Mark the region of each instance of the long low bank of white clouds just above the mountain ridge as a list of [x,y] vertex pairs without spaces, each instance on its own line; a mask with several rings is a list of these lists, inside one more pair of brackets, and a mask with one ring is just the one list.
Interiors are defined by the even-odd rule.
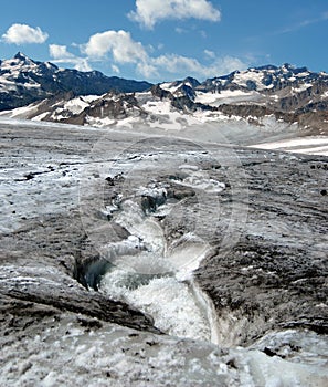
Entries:
[[247,64],[233,56],[216,56],[204,50],[202,60],[177,54],[155,55],[154,48],[145,48],[127,31],[105,31],[92,35],[86,44],[80,45],[81,56],[73,55],[66,45],[50,44],[54,63],[70,63],[77,70],[89,71],[89,63],[109,62],[114,73],[120,73],[124,65],[133,65],[142,77],[157,81],[163,77],[188,75],[204,79],[243,70]]

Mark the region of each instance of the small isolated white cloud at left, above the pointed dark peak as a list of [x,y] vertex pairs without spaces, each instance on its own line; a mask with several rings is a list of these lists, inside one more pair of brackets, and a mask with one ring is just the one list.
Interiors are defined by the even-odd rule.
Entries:
[[12,24],[2,35],[6,43],[25,44],[44,43],[49,34],[43,32],[40,27],[33,28],[27,24]]

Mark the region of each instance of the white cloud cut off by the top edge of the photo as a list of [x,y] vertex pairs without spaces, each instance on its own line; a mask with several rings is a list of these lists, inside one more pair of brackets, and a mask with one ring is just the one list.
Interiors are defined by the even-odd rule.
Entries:
[[136,0],[136,11],[128,17],[152,29],[166,19],[201,19],[220,21],[221,13],[208,0]]

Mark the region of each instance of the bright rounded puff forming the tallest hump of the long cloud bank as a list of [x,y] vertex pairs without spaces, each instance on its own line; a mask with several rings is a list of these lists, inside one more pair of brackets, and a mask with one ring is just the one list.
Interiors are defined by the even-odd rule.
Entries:
[[141,43],[131,39],[126,31],[105,31],[92,35],[83,51],[89,57],[104,57],[112,53],[117,63],[137,63],[147,60],[147,53]]

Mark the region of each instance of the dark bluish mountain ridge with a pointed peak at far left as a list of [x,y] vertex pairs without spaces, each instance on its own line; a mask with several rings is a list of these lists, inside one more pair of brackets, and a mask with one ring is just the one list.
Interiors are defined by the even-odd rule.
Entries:
[[59,69],[50,62],[33,61],[21,52],[11,60],[0,61],[0,111],[21,107],[65,92],[100,95],[110,90],[128,93],[150,86],[148,82],[109,77],[98,71]]

